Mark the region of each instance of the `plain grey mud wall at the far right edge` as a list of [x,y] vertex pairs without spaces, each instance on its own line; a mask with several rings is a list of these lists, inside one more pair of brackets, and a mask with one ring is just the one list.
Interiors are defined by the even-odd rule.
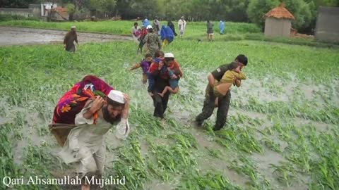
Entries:
[[339,42],[338,7],[319,7],[315,37],[327,42]]

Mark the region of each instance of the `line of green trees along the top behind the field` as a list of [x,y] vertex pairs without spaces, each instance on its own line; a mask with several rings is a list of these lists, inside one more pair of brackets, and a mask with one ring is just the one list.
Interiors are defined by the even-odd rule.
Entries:
[[[41,0],[0,0],[1,7],[27,8]],[[339,6],[339,0],[57,0],[69,8],[73,15],[88,13],[97,18],[121,16],[122,19],[148,18],[178,20],[184,16],[189,21],[225,20],[256,23],[263,27],[263,16],[270,9],[285,3],[294,16],[292,27],[301,32],[311,32],[316,24],[319,6]]]

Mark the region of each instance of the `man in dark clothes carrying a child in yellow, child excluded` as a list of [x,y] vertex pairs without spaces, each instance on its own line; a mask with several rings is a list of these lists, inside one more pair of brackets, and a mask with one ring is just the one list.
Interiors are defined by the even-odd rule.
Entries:
[[[205,100],[203,101],[203,110],[202,113],[200,113],[196,117],[196,122],[198,125],[202,125],[203,121],[210,118],[210,115],[212,115],[213,110],[215,108],[215,94],[213,92],[214,88],[214,82],[215,80],[220,81],[222,76],[225,74],[227,70],[232,70],[234,68],[237,68],[239,65],[241,66],[241,69],[247,65],[247,58],[246,56],[240,54],[235,58],[235,61],[237,64],[225,64],[220,65],[219,68],[214,70],[213,72],[210,72],[208,74],[208,84],[206,87],[206,94],[205,94]],[[237,87],[240,87],[240,84],[242,82],[240,80],[235,80],[234,85]],[[214,131],[218,131],[224,127],[226,120],[227,120],[227,113],[228,108],[230,107],[230,99],[231,99],[231,92],[227,91],[227,94],[218,101],[218,112],[217,112],[217,121],[215,122],[215,126],[213,128]]]

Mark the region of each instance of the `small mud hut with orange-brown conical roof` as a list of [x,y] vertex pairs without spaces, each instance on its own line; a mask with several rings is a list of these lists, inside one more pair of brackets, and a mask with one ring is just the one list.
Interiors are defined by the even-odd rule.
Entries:
[[285,4],[273,8],[265,14],[265,36],[290,37],[291,20],[295,17],[287,11]]

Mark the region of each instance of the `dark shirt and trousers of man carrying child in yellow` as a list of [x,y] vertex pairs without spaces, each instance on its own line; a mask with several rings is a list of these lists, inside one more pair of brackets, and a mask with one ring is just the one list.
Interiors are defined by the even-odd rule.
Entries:
[[[227,70],[233,70],[237,68],[237,66],[237,63],[220,65],[219,68],[211,72],[211,74],[215,80],[220,81]],[[215,108],[215,98],[216,96],[214,94],[213,88],[210,87],[210,84],[207,84],[205,100],[203,101],[203,109],[202,112],[196,117],[196,122],[202,124],[204,120],[210,118],[210,115],[212,115]],[[214,126],[215,130],[221,129],[226,123],[228,109],[230,108],[230,99],[230,91],[227,91],[225,96],[218,99],[217,121],[215,122]]]

